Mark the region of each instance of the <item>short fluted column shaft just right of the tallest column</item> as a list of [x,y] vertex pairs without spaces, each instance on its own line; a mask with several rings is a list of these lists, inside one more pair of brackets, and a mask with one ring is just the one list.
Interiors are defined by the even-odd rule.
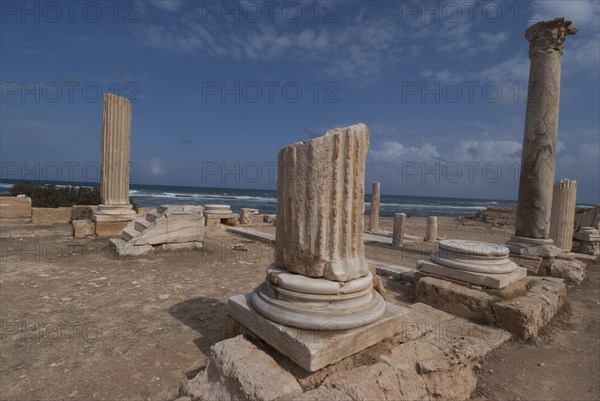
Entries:
[[571,252],[573,247],[576,195],[576,181],[564,179],[554,183],[550,238],[557,247],[567,252]]

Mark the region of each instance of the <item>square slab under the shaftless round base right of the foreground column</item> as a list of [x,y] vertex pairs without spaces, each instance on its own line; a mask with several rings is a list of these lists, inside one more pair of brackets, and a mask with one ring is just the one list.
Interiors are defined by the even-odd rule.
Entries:
[[482,285],[489,288],[504,288],[527,276],[527,269],[518,267],[515,271],[503,274],[485,274],[459,270],[429,261],[419,261],[417,270],[436,276],[448,277],[465,283]]

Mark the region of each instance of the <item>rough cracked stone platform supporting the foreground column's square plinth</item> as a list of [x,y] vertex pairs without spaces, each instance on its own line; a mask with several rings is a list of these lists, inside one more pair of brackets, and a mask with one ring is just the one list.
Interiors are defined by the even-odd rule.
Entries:
[[[230,323],[236,324],[234,320]],[[307,372],[250,332],[215,344],[207,367],[181,388],[192,399],[468,399],[481,359],[511,336],[422,303],[410,305],[402,333]],[[331,345],[331,344],[330,344]]]

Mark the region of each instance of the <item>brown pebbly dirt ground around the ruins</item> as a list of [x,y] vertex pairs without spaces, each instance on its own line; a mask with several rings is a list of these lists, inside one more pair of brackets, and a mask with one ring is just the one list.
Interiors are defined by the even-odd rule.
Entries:
[[[410,224],[423,235],[422,219]],[[439,233],[503,242],[510,231],[441,219]],[[231,250],[236,242],[249,251]],[[262,281],[273,253],[225,232],[202,252],[137,259],[119,260],[105,239],[2,238],[0,250],[2,400],[173,400],[223,338],[227,299]],[[538,341],[512,341],[484,361],[474,399],[600,399],[599,270],[589,265],[588,279],[569,288],[568,307]]]

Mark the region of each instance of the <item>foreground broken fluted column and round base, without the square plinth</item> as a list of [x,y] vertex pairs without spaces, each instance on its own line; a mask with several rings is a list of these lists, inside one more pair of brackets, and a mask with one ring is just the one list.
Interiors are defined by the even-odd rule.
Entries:
[[364,256],[368,147],[369,130],[358,124],[279,151],[275,263],[252,295],[263,316],[302,329],[339,330],[384,313]]

